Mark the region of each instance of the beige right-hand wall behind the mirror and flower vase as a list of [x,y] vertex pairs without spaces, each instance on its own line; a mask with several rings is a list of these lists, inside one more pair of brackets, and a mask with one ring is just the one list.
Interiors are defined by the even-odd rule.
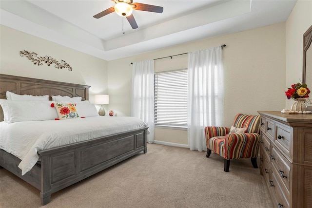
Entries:
[[[312,0],[298,0],[286,21],[286,87],[302,80],[303,34],[312,25]],[[312,86],[308,86],[312,88]],[[286,99],[286,97],[285,97]],[[286,99],[286,107],[293,101]]]

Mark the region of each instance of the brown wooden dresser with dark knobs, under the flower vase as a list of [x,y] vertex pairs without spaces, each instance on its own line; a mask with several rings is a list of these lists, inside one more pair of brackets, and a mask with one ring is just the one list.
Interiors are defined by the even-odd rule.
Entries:
[[260,173],[276,208],[312,208],[312,114],[258,111]]

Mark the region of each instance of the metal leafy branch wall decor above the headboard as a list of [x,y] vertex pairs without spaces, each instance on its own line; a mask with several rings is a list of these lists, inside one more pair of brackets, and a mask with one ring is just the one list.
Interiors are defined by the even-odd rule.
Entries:
[[28,52],[26,50],[24,51],[20,51],[20,56],[23,57],[27,57],[29,60],[31,60],[35,65],[41,66],[43,63],[48,64],[48,66],[50,66],[51,64],[55,64],[54,67],[58,68],[58,69],[62,69],[62,68],[68,68],[68,71],[72,71],[72,67],[66,63],[64,60],[61,60],[61,63],[59,63],[59,61],[57,61],[56,59],[49,57],[49,56],[45,56],[45,57],[37,57],[38,54],[33,53],[33,52]]

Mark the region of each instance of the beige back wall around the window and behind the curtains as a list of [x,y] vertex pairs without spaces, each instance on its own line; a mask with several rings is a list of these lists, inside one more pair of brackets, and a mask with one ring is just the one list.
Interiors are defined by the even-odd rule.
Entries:
[[[108,62],[110,108],[131,114],[131,62],[166,57],[226,44],[224,65],[224,126],[231,127],[236,113],[285,108],[285,23],[208,38],[175,47]],[[155,60],[155,71],[183,69],[188,56]],[[155,140],[187,145],[187,131],[155,130]]]

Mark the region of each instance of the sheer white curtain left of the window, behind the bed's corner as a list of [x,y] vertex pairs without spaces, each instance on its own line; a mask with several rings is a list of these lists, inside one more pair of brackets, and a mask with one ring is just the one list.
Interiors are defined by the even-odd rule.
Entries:
[[154,60],[133,63],[131,116],[149,127],[148,143],[154,142]]

